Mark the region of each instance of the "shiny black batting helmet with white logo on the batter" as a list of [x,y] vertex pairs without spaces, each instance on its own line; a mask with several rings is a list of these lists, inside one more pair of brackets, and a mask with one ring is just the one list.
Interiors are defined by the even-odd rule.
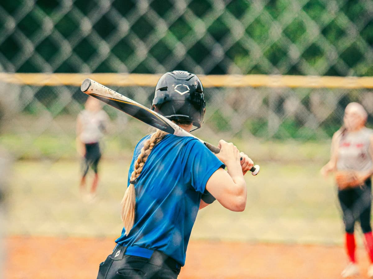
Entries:
[[203,123],[205,108],[202,83],[195,74],[173,71],[159,79],[153,110],[170,120],[190,121],[198,129]]

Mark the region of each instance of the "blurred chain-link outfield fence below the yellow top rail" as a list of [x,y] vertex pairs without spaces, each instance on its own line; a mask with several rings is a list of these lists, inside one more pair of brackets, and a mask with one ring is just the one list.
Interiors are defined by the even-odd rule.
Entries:
[[[79,86],[0,84],[4,89],[0,102],[1,141],[13,150],[16,158],[74,157],[75,118],[87,99]],[[154,86],[109,87],[151,106]],[[373,113],[373,92],[363,88],[208,87],[205,97],[207,112],[203,131],[195,134],[216,142],[220,138],[327,141],[341,126],[348,103],[362,103],[369,113],[369,122]],[[132,148],[138,136],[147,132],[146,125],[125,113],[109,106],[104,109],[113,121],[112,144],[126,142],[125,147]],[[141,127],[140,131],[136,128],[138,135],[132,138],[126,134],[134,129],[131,125]],[[46,141],[49,148],[43,146]]]

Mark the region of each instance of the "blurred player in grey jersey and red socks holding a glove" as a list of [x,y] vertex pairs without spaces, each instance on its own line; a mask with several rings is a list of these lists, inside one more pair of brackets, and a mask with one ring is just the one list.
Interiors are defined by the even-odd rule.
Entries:
[[338,185],[338,199],[345,225],[345,245],[350,262],[343,270],[342,277],[359,273],[354,235],[355,222],[358,221],[370,260],[368,277],[373,278],[373,235],[370,225],[373,131],[365,126],[367,116],[367,112],[359,103],[347,105],[344,125],[332,138],[330,161],[321,169],[324,176],[334,172]]

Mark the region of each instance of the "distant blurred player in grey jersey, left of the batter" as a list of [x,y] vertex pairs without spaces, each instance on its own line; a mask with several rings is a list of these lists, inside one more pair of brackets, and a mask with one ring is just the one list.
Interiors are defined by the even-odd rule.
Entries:
[[[98,163],[101,158],[100,140],[107,132],[109,117],[101,107],[101,102],[94,97],[88,97],[85,109],[82,110],[76,121],[76,147],[82,157],[82,177],[80,192],[87,201],[95,198],[98,184]],[[94,171],[93,182],[89,192],[86,189],[88,170]]]

